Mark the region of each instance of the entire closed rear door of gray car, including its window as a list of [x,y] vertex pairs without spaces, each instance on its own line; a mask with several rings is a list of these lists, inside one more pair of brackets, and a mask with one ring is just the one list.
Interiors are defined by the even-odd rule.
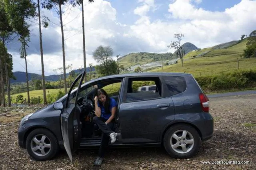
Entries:
[[[156,82],[156,93],[134,91],[131,82],[143,85],[145,81]],[[161,77],[126,77],[124,95],[119,109],[119,121],[123,143],[160,142],[165,125],[175,118],[174,103]],[[158,96],[159,95],[159,96]]]

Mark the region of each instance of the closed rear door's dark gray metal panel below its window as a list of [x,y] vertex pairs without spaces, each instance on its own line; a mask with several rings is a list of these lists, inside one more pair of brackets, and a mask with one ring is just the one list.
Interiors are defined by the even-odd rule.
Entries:
[[174,104],[171,97],[121,103],[119,121],[122,141],[124,143],[159,142],[161,140],[159,134],[163,127],[174,118]]

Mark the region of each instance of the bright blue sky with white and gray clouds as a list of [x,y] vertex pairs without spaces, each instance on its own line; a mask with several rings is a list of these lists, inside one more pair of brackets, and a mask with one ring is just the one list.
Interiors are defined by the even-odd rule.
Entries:
[[[239,40],[256,29],[256,0],[85,0],[86,66],[96,65],[92,52],[100,45],[113,48],[116,55],[136,52],[173,52],[167,45],[174,34],[182,33],[182,43],[198,48]],[[66,65],[83,67],[81,6],[65,5],[64,40]],[[48,28],[42,28],[45,75],[58,74],[63,67],[62,39],[59,18],[54,10],[42,9]],[[30,20],[30,42],[27,49],[28,72],[42,74],[39,25]],[[20,42],[8,43],[13,56],[13,71],[25,71],[20,58]]]

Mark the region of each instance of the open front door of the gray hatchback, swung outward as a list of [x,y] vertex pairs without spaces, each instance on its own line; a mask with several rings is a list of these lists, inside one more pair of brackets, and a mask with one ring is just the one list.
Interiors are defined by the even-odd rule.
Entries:
[[[75,81],[72,83],[70,90],[68,91],[66,106],[64,106],[64,110],[62,111],[62,114],[60,116],[63,143],[71,162],[73,162],[72,153],[74,153],[80,145],[80,112],[78,110],[79,108],[77,107],[77,99],[82,85],[82,81],[84,80],[84,75],[85,71],[78,75],[78,77],[76,77]],[[70,100],[69,98],[71,91],[73,90],[74,86],[78,81],[78,88],[76,92],[74,92],[76,98],[75,100]]]

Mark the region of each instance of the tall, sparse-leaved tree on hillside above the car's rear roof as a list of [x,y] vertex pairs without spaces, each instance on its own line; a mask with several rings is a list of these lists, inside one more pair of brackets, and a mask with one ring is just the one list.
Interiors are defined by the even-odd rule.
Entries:
[[170,44],[168,45],[168,47],[176,50],[176,53],[180,56],[181,65],[183,67],[184,49],[180,45],[182,37],[184,37],[184,34],[174,34],[174,38],[177,39],[177,41],[171,41]]

